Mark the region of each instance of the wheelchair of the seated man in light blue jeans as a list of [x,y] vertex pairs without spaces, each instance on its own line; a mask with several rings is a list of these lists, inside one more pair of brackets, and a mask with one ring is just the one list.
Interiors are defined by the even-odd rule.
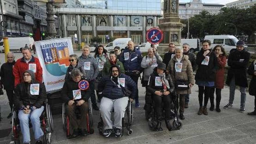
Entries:
[[[18,118],[18,111],[16,108],[13,108],[13,117],[12,117],[12,134],[11,134],[11,142],[10,144],[22,144],[20,136],[21,129],[19,126],[19,118]],[[49,104],[44,104],[44,111],[40,116],[40,123],[42,131],[44,132],[44,136],[42,136],[42,143],[43,144],[50,144],[51,143],[51,133],[54,130],[52,115],[51,115],[51,106]],[[32,127],[31,123],[29,122],[29,127]]]

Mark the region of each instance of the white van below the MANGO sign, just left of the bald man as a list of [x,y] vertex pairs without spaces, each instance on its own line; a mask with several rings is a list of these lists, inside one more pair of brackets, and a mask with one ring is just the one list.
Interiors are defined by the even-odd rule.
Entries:
[[124,49],[128,41],[131,40],[131,38],[116,38],[113,42],[109,42],[106,46],[105,49],[108,51],[113,51],[114,47],[118,46],[120,49]]

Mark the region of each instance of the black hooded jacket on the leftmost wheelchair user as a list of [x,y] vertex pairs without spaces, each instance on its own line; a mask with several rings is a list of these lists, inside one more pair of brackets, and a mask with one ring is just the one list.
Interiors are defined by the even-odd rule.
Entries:
[[38,82],[35,81],[35,74],[33,71],[26,70],[25,72],[31,75],[32,82],[22,82],[16,86],[14,91],[14,105],[17,109],[21,109],[22,106],[28,105],[30,107],[35,106],[36,108],[40,108],[46,102],[45,84],[39,83],[39,95],[31,95],[30,85],[37,84]]

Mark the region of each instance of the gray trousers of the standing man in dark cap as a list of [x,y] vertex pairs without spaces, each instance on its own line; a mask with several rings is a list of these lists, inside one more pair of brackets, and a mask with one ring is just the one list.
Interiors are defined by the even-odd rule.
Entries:
[[[229,103],[230,104],[233,104],[234,96],[235,96],[235,90],[236,90],[236,83],[235,83],[235,77],[233,77],[230,81],[230,86],[229,86]],[[245,107],[246,88],[240,86],[240,92],[241,92],[240,106]]]

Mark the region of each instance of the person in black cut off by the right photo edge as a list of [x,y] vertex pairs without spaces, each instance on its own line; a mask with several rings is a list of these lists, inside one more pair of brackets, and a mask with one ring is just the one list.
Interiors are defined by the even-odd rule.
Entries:
[[[256,96],[256,60],[254,60],[248,68],[248,74],[252,76],[249,86],[249,94]],[[256,115],[256,98],[254,98],[254,111],[248,115]]]

